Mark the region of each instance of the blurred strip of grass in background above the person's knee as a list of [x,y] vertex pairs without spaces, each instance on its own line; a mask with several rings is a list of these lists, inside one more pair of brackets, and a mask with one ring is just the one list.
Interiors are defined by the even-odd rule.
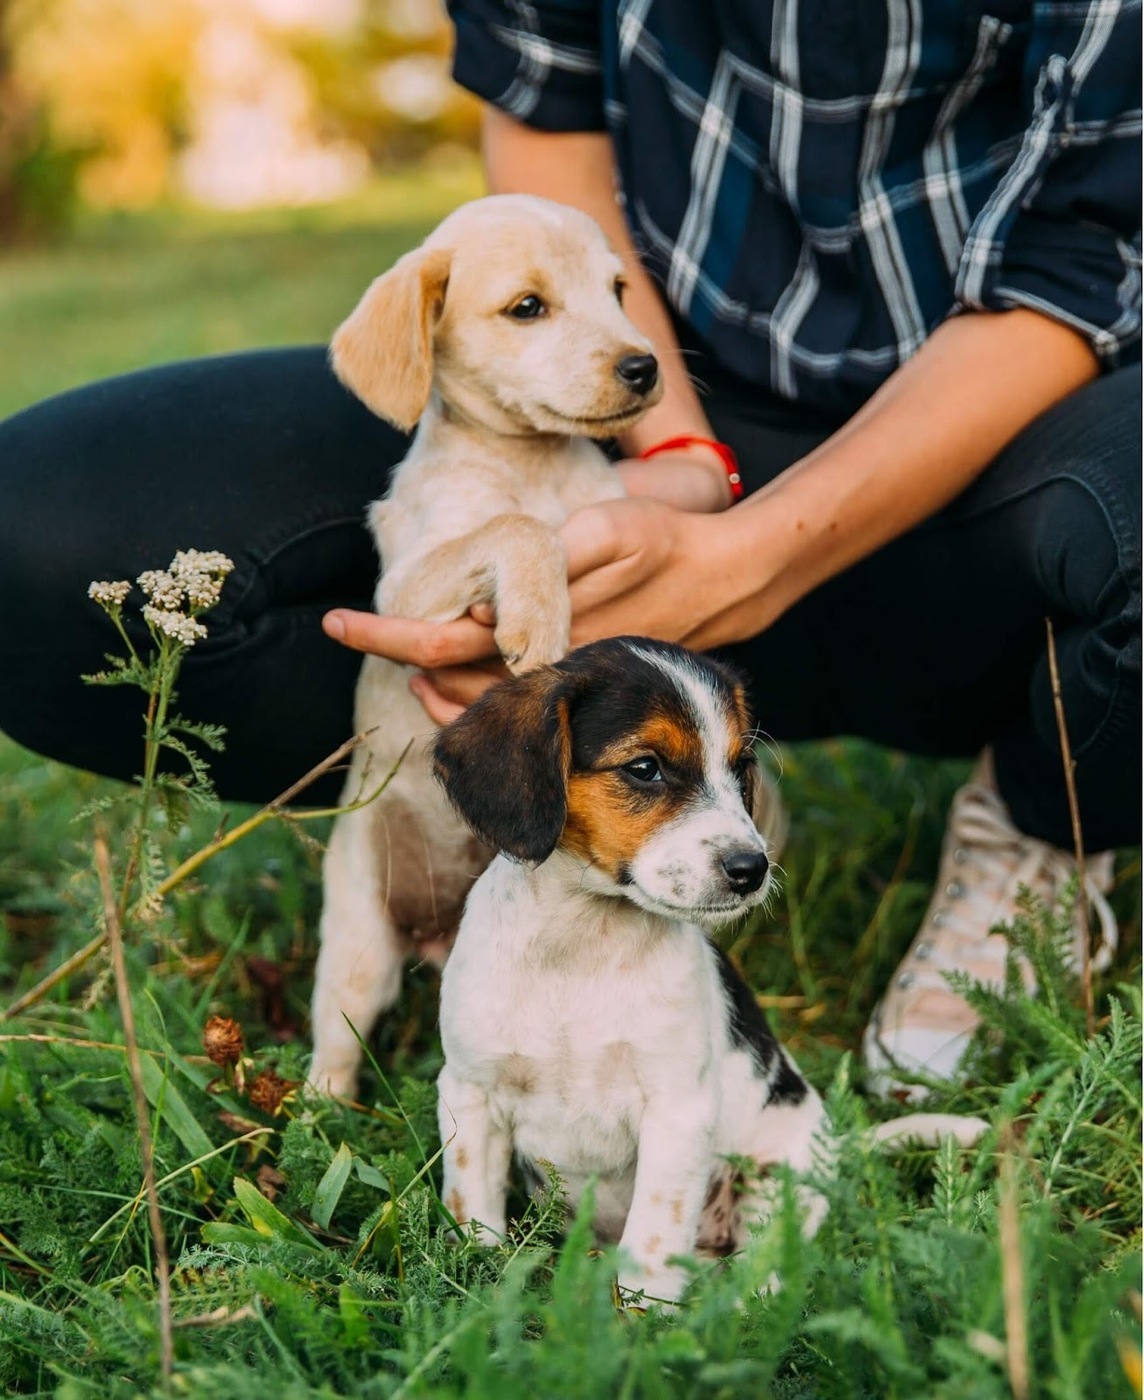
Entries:
[[0,416],[164,360],[328,340],[372,277],[479,193],[459,164],[329,209],[88,216],[69,242],[0,260]]

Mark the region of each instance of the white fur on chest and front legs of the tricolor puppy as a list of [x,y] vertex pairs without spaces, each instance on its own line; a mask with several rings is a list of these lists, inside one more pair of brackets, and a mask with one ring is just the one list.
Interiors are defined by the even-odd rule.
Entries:
[[[536,1177],[552,1163],[571,1205],[595,1177],[597,1231],[632,1256],[622,1284],[675,1298],[667,1260],[695,1250],[720,1154],[760,1155],[766,1077],[703,932],[584,892],[576,867],[497,857],[469,896],[441,990],[444,1200],[491,1240],[512,1151]],[[816,1096],[794,1112],[809,1142]]]

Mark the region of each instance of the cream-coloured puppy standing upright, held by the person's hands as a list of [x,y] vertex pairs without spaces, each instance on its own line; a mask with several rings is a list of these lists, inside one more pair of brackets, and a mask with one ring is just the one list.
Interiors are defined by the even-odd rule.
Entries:
[[[662,395],[647,339],[623,314],[623,273],[597,224],[531,196],[477,200],[367,290],[330,347],[337,377],[374,413],[417,431],[370,510],[381,613],[448,622],[496,609],[514,672],[568,644],[567,517],[623,494],[592,438],[636,423]],[[420,420],[420,421],[419,421]],[[325,861],[314,991],[312,1082],[350,1093],[358,1036],[392,1005],[405,958],[442,960],[489,860],[433,783],[433,725],[410,671],[367,657],[356,696],[346,804]]]

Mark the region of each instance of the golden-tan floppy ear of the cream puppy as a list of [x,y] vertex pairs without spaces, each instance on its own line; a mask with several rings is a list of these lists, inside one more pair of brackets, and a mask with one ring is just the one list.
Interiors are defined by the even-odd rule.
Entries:
[[445,302],[452,253],[416,248],[377,277],[335,330],[333,372],[346,388],[409,433],[428,403],[433,330]]

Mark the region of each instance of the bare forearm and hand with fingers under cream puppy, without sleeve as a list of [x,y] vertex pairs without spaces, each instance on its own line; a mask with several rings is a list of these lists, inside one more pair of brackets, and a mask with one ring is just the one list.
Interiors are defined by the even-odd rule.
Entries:
[[[1087,342],[1035,311],[947,321],[850,423],[735,510],[700,515],[637,498],[574,515],[564,528],[573,643],[643,633],[710,648],[758,634],[951,501],[1095,374]],[[472,617],[441,627],[339,617],[349,645],[433,671],[419,696],[434,720],[490,683],[463,669],[494,650]]]

